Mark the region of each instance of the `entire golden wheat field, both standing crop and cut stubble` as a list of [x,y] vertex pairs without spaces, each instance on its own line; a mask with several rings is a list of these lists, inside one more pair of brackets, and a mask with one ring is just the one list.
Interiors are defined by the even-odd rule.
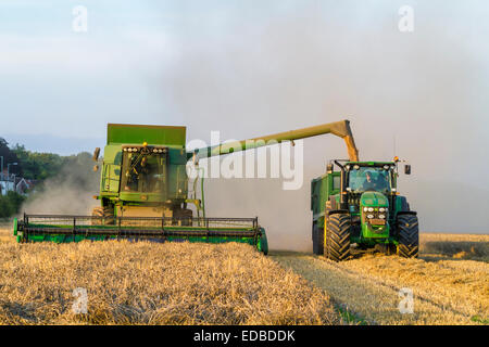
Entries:
[[[488,324],[489,235],[422,234],[418,259],[241,244],[16,244],[0,230],[0,324]],[[274,261],[275,260],[275,261]],[[77,287],[88,312],[72,310]],[[414,312],[400,313],[401,288]]]

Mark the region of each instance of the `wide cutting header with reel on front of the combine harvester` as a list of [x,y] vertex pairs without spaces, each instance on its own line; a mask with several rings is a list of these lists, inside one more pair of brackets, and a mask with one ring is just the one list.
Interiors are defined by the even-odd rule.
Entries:
[[14,224],[18,242],[83,240],[148,240],[155,242],[241,242],[266,253],[265,230],[258,218],[189,218],[178,226],[166,217],[113,217],[110,222],[99,216],[24,215]]

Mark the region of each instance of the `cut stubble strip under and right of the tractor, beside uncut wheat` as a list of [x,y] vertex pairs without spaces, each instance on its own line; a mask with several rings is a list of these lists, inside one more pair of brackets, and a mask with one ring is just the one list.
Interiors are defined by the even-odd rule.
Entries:
[[[418,259],[364,255],[336,264],[288,252],[272,257],[368,323],[488,324],[488,241],[489,235],[422,234]],[[413,291],[414,313],[399,311],[404,287]]]

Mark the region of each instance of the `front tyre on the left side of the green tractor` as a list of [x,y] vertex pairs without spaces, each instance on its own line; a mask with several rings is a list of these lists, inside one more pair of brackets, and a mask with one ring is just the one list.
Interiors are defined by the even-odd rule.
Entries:
[[334,261],[347,260],[350,257],[350,216],[335,214],[328,217],[326,224],[325,256]]

